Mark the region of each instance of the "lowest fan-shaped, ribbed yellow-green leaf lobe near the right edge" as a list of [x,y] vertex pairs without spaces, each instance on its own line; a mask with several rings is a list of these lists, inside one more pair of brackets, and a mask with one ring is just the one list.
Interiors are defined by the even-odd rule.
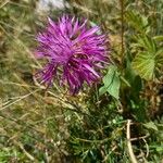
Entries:
[[150,80],[154,75],[155,55],[148,52],[140,52],[135,57],[131,65],[140,77]]

